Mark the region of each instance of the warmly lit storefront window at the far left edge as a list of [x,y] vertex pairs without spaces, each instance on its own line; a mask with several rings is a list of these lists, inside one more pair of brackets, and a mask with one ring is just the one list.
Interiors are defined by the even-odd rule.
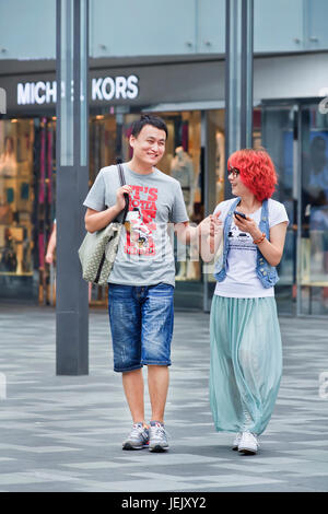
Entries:
[[28,119],[0,121],[0,283],[33,274],[33,144]]

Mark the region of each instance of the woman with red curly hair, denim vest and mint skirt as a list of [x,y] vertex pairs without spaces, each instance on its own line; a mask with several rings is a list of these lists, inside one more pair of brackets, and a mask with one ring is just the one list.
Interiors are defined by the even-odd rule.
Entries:
[[227,166],[237,198],[216,207],[202,249],[209,261],[223,237],[210,322],[210,405],[215,429],[237,432],[233,449],[256,454],[282,371],[273,287],[289,220],[284,206],[271,199],[277,175],[266,151],[239,150]]

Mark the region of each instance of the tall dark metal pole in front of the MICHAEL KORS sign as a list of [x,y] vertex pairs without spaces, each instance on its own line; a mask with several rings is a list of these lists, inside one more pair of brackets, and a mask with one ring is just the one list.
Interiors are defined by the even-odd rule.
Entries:
[[57,0],[56,371],[89,373],[87,284],[78,249],[89,186],[89,0]]

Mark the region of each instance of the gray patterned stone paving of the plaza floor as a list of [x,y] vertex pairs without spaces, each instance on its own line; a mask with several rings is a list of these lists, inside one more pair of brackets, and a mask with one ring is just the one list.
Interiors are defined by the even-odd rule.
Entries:
[[55,311],[0,305],[0,491],[328,491],[328,320],[280,323],[278,402],[258,455],[242,456],[213,429],[209,315],[176,313],[171,449],[152,454],[121,449],[131,422],[106,312],[90,315],[90,374],[56,376]]

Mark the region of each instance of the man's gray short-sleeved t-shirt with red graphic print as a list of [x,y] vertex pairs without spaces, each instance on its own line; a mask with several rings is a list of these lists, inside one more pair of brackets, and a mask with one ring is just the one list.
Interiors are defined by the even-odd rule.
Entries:
[[[175,178],[157,168],[141,175],[124,164],[124,171],[132,194],[108,282],[174,285],[173,225],[167,223],[188,221],[181,187]],[[115,206],[119,187],[117,166],[103,167],[83,205],[96,211]]]

